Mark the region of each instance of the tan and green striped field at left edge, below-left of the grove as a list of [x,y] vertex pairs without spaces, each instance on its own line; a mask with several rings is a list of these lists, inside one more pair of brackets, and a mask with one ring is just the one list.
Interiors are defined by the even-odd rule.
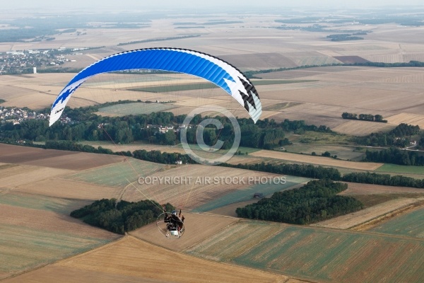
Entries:
[[81,200],[4,192],[0,202],[0,242],[5,243],[0,245],[1,277],[32,270],[119,238],[67,216],[85,204],[88,203]]

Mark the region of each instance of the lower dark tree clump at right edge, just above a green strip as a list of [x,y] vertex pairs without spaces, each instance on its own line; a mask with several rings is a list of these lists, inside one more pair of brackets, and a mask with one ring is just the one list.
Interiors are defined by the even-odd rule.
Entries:
[[391,146],[381,151],[366,151],[365,161],[393,163],[399,165],[424,166],[424,156],[417,151],[406,151]]

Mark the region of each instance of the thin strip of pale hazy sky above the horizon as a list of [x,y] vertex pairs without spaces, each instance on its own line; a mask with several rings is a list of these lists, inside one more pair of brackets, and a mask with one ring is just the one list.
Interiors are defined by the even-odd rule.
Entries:
[[423,6],[423,0],[2,0],[0,9],[25,8],[148,8],[208,6]]

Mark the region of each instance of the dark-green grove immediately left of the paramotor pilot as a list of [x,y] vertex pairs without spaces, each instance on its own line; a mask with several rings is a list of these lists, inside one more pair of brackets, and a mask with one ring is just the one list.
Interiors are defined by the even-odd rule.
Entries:
[[[174,207],[166,204],[167,211]],[[168,210],[169,209],[169,210]],[[92,226],[97,226],[113,233],[124,234],[155,221],[162,213],[160,204],[151,200],[139,202],[117,202],[115,199],[96,200],[92,204],[71,212],[71,216],[83,219]]]

